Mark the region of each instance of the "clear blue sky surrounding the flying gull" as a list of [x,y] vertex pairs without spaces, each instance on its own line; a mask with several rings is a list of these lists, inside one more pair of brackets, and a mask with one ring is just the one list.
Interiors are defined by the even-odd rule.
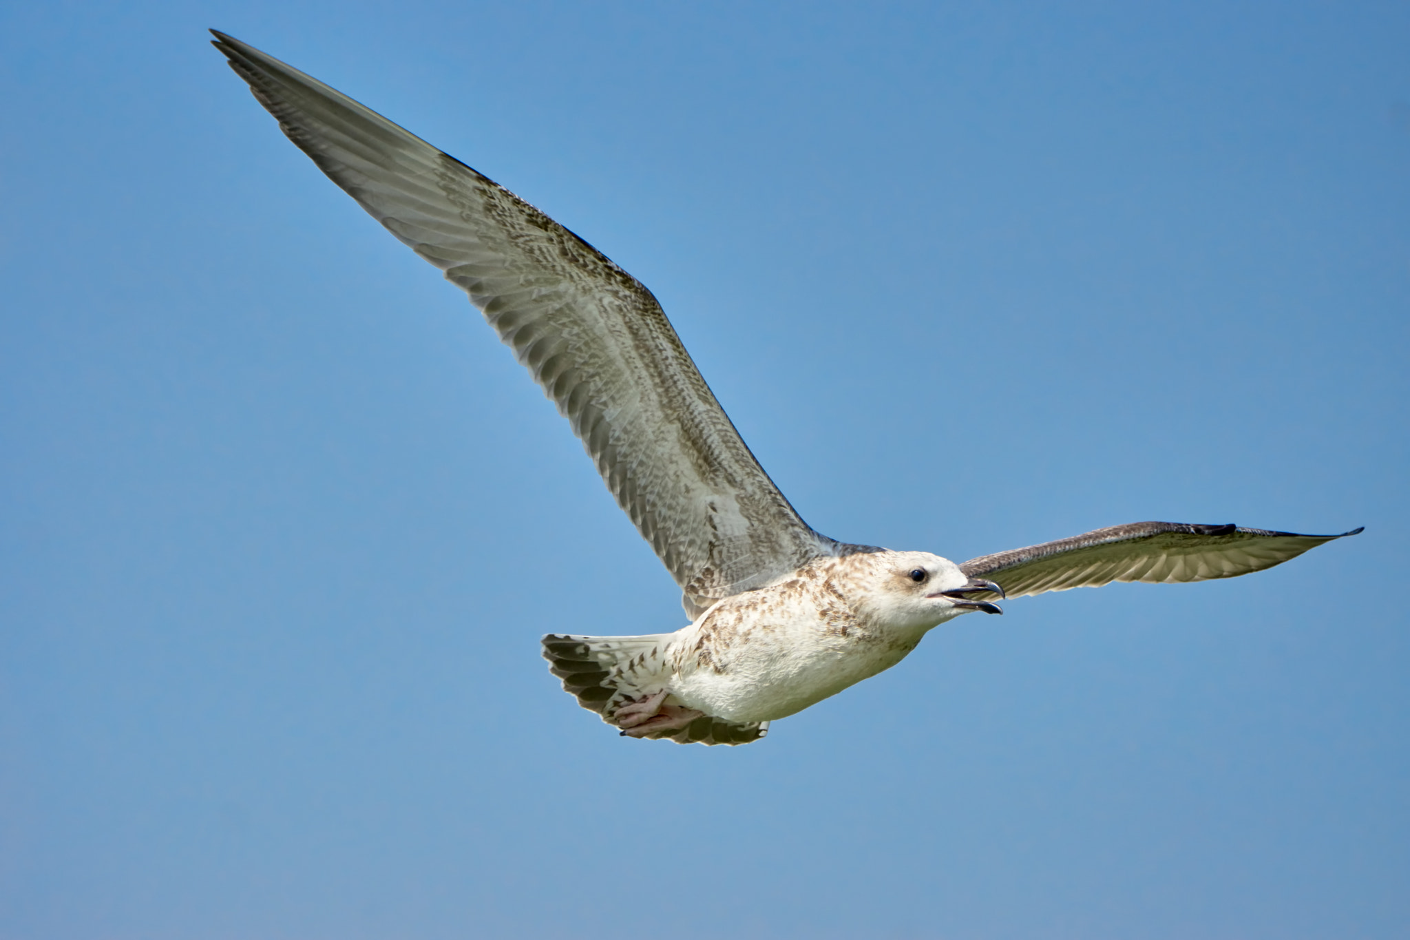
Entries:
[[[0,936],[1410,936],[1410,8],[0,10]],[[1358,538],[964,617],[742,748],[678,595],[217,27],[661,299],[818,530]]]

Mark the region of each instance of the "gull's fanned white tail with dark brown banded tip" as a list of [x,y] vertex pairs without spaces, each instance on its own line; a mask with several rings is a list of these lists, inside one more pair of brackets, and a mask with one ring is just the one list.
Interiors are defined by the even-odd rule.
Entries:
[[[616,726],[619,706],[654,695],[671,676],[666,664],[670,633],[642,637],[574,637],[550,633],[543,638],[548,671],[563,679],[564,692],[578,705]],[[674,700],[674,699],[670,699]],[[768,722],[736,724],[701,715],[684,729],[646,737],[666,737],[680,744],[747,744],[768,733]]]

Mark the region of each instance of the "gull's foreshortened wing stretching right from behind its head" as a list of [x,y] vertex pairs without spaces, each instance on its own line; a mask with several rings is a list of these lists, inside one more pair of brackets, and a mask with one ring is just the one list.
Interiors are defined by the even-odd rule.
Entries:
[[[1272,568],[1308,548],[1359,531],[1361,528],[1354,528],[1341,536],[1297,536],[1232,524],[1131,523],[971,558],[960,569],[971,578],[995,582],[1010,598],[1069,588],[1100,588],[1112,581],[1208,581]],[[973,596],[983,599],[998,595]]]

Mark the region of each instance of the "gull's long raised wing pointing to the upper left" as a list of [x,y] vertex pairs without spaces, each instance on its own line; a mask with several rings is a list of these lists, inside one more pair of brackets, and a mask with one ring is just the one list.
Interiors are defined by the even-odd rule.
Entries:
[[214,35],[289,140],[484,311],[571,421],[681,585],[687,613],[832,551],[749,452],[632,275],[345,94]]

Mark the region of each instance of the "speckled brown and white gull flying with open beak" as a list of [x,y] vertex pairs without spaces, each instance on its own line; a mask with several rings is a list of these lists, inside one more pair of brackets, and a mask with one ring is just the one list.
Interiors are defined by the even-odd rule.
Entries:
[[289,140],[470,295],[680,585],[691,623],[674,633],[541,640],[563,688],[625,737],[747,744],[939,624],[1003,613],[998,599],[1234,578],[1362,531],[1149,521],[963,564],[828,538],[768,479],[639,280],[454,156],[212,34]]

